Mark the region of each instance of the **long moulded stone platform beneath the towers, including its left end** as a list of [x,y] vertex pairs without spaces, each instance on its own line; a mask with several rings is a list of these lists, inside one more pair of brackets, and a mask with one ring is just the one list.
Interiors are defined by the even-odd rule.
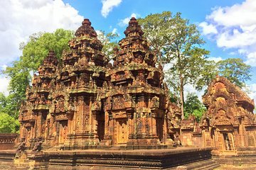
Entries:
[[[0,165],[6,162],[0,152]],[[36,154],[27,151],[27,158],[14,159],[17,169],[215,169],[220,166],[213,161],[211,148],[138,149],[138,150],[73,150],[47,151]],[[24,162],[24,160],[26,160]]]

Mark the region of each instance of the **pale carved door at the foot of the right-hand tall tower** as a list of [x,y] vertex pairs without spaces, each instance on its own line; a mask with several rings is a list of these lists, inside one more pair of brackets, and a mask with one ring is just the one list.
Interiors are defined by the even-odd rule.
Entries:
[[117,145],[127,143],[128,133],[127,119],[117,120]]

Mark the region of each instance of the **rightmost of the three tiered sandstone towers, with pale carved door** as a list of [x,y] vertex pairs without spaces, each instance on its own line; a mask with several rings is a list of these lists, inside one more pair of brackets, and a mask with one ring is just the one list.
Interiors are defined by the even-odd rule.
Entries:
[[164,142],[165,101],[163,72],[135,18],[115,50],[113,68],[106,79],[105,145],[157,147]]

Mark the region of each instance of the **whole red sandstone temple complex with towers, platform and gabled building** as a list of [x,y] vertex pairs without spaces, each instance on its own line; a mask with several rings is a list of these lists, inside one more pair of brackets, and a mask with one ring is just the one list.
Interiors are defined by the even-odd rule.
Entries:
[[[163,69],[156,67],[136,18],[124,34],[114,49],[113,65],[102,54],[88,19],[70,40],[61,64],[49,52],[21,105],[16,164],[48,169],[176,169],[186,164],[188,169],[214,169],[218,164],[210,149],[199,147],[213,147],[216,157],[255,153],[242,149],[255,147],[256,139],[254,103],[246,94],[217,77],[203,97],[208,111],[200,125],[193,116],[181,121],[181,110],[168,100]],[[198,149],[160,149],[181,144]]]

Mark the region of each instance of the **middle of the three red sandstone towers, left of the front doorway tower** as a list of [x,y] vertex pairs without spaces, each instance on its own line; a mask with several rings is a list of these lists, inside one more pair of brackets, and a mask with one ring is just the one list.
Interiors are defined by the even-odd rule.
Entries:
[[[70,50],[63,55],[63,67],[53,93],[55,110],[52,114],[62,123],[59,143],[65,142],[68,149],[95,147],[103,137],[97,127],[104,126],[104,122],[103,114],[92,111],[92,108],[99,105],[96,110],[101,109],[96,101],[97,91],[103,84],[103,67],[108,61],[102,55],[102,44],[87,19],[75,32],[69,46]],[[56,108],[60,108],[59,111]]]

